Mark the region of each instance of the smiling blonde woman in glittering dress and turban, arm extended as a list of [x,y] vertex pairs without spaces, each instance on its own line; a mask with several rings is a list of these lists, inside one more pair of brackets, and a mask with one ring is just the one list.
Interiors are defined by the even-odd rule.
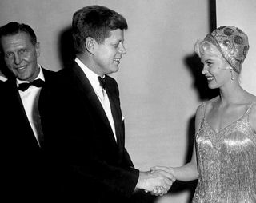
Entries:
[[256,98],[238,80],[248,50],[247,35],[234,26],[218,27],[196,43],[202,74],[219,95],[198,106],[191,161],[152,168],[179,181],[198,179],[194,203],[256,202]]

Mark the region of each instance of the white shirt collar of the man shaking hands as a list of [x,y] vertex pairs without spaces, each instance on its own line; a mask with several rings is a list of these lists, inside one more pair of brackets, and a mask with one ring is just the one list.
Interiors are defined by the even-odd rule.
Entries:
[[[94,90],[97,90],[98,86],[100,86],[98,81],[98,74],[95,74],[94,71],[90,70],[83,62],[81,62],[79,58],[75,58],[74,61],[78,63],[78,66],[80,66],[84,74],[86,74],[86,77],[89,79],[90,84],[93,86]],[[105,75],[103,78],[105,78]]]

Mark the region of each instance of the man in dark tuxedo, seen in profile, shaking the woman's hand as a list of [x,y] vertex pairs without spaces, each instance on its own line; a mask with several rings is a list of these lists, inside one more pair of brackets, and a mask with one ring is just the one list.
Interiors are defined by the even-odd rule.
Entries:
[[125,148],[118,71],[126,49],[126,19],[104,6],[86,6],[73,15],[77,52],[42,91],[40,103],[46,151],[56,169],[59,197],[72,202],[126,202],[137,190],[162,194],[174,177],[134,169]]

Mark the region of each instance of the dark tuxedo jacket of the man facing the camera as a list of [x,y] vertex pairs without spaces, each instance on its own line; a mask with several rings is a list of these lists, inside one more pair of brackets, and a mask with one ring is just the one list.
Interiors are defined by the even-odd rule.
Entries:
[[[54,71],[42,71],[45,81],[50,81]],[[46,159],[26,117],[16,79],[8,79],[0,90],[2,194],[6,195],[10,202],[12,199],[42,199],[42,194],[39,194],[42,192],[39,191],[44,190],[48,178]]]

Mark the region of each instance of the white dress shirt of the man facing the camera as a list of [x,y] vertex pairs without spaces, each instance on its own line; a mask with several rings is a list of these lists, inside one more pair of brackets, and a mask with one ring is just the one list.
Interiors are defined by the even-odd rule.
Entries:
[[[39,69],[40,69],[40,72],[38,74],[38,77],[35,79],[40,78],[44,81],[45,78],[42,74],[41,66],[39,66]],[[28,81],[21,81],[19,79],[17,79],[16,81],[17,81],[17,86],[20,83],[28,82]],[[20,96],[22,98],[22,104],[26,111],[26,116],[27,116],[28,120],[30,121],[31,128],[33,129],[34,136],[37,139],[39,146],[40,146],[40,141],[42,141],[42,139],[43,139],[41,118],[40,118],[39,110],[38,110],[38,99],[39,99],[40,90],[41,90],[41,87],[36,87],[36,86],[30,86],[24,92],[21,90],[18,90],[18,93],[20,94]]]

